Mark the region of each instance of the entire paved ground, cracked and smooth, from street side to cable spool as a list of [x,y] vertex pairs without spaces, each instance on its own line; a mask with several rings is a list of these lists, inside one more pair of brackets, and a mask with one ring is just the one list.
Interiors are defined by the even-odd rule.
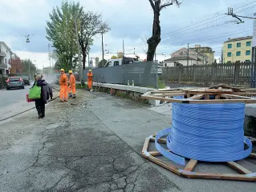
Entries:
[[144,139],[169,127],[169,114],[108,94],[77,96],[47,104],[44,119],[31,110],[0,122],[0,191],[254,191],[251,182],[179,178],[142,158]]

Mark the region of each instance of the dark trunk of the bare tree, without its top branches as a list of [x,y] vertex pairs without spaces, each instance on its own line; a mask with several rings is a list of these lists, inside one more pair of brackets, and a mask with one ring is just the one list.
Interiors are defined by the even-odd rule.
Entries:
[[152,26],[152,37],[148,38],[147,61],[153,61],[156,53],[156,47],[161,42],[160,9],[154,10],[154,21]]

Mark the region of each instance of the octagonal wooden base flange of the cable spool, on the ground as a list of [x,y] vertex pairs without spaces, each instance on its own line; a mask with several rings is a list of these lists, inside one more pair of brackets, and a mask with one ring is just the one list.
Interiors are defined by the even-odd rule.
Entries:
[[[236,181],[246,181],[246,182],[256,182],[256,173],[252,173],[250,170],[247,170],[245,167],[240,166],[236,162],[226,162],[227,166],[230,166],[232,169],[238,171],[239,174],[219,174],[219,173],[200,173],[194,172],[193,169],[197,166],[197,163],[200,163],[197,160],[190,159],[188,164],[184,169],[178,169],[176,166],[171,165],[170,163],[162,161],[157,156],[161,154],[158,151],[148,151],[148,146],[150,142],[155,141],[156,134],[151,135],[146,138],[144,146],[142,149],[142,156],[147,158],[149,161],[156,163],[159,166],[164,167],[166,170],[173,172],[184,178],[207,178],[207,179],[222,179],[222,180],[236,180]],[[250,140],[256,143],[255,138],[250,138]],[[166,139],[159,139],[158,142],[166,143]],[[256,159],[256,154],[250,154],[250,158]],[[225,163],[225,162],[223,162]]]

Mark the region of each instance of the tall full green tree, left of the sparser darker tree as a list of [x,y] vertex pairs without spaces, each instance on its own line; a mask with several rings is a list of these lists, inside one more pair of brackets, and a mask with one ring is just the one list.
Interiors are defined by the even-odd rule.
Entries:
[[74,68],[73,58],[77,54],[75,17],[82,13],[79,2],[63,1],[60,8],[56,6],[47,21],[47,39],[55,47],[59,66],[65,70]]

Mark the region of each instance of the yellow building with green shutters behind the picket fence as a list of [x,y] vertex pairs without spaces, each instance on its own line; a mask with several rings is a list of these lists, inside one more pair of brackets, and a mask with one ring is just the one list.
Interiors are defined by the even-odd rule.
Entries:
[[252,36],[230,38],[223,43],[223,62],[250,62]]

